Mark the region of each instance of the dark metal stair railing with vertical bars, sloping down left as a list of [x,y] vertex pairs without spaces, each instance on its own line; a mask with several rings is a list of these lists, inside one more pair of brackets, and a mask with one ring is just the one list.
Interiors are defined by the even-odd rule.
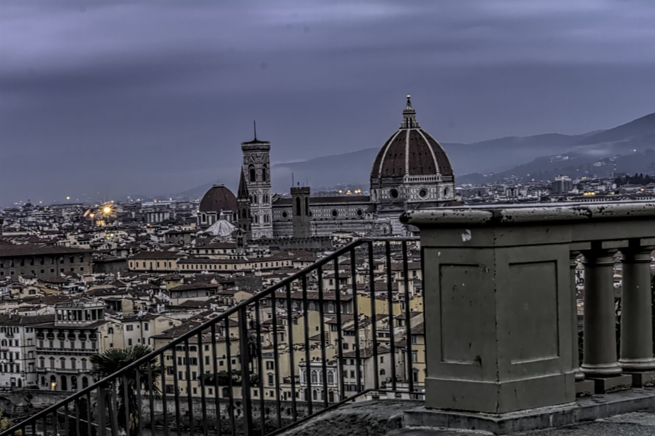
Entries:
[[421,259],[418,238],[356,240],[0,436],[265,436],[375,391],[422,397]]

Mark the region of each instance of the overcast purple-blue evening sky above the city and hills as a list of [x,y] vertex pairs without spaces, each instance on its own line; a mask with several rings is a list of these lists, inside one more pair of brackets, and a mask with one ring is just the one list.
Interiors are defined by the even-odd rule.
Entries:
[[236,185],[379,147],[410,92],[443,142],[655,112],[652,0],[2,0],[0,205]]

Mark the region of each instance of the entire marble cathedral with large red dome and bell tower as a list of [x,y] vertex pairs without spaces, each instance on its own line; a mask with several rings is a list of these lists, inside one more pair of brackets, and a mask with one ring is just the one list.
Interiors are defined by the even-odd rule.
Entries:
[[[200,227],[208,225],[202,217],[215,215],[236,221],[238,238],[244,240],[310,238],[336,232],[402,235],[407,234],[399,219],[404,211],[447,206],[455,199],[451,162],[438,141],[419,126],[409,94],[400,128],[373,161],[369,195],[312,197],[309,187],[291,188],[291,197],[271,194],[271,143],[255,137],[241,143],[241,149],[238,196],[206,200],[217,195],[212,187],[201,201]],[[229,197],[223,190],[227,188],[221,186],[221,196]],[[202,210],[202,204],[223,209]]]

